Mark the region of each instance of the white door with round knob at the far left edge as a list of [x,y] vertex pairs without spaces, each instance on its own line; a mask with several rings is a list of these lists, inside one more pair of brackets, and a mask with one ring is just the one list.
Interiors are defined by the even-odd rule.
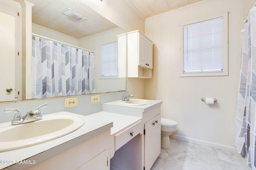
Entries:
[[[16,18],[13,15],[17,15],[17,10],[8,10],[7,7],[0,6],[0,102],[13,101],[15,98]],[[12,92],[7,92],[8,88]]]

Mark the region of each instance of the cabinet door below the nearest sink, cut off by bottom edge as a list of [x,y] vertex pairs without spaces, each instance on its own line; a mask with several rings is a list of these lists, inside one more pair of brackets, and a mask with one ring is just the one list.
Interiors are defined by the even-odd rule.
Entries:
[[110,149],[98,154],[78,170],[110,170]]

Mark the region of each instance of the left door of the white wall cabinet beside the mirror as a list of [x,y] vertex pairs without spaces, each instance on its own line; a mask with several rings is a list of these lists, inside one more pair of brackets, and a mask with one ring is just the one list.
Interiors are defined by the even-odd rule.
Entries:
[[138,63],[142,67],[147,67],[147,38],[144,37],[141,33],[138,33],[139,37],[139,57],[138,57]]

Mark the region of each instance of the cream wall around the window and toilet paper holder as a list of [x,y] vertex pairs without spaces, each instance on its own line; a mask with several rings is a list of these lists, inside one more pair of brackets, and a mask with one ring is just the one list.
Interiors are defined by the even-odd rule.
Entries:
[[[145,80],[145,98],[162,100],[162,117],[178,122],[174,138],[235,150],[234,116],[240,78],[241,29],[254,0],[204,0],[148,18],[146,35],[154,41],[153,78]],[[180,77],[180,24],[214,14],[229,14],[229,76]],[[201,97],[216,98],[207,105]]]

